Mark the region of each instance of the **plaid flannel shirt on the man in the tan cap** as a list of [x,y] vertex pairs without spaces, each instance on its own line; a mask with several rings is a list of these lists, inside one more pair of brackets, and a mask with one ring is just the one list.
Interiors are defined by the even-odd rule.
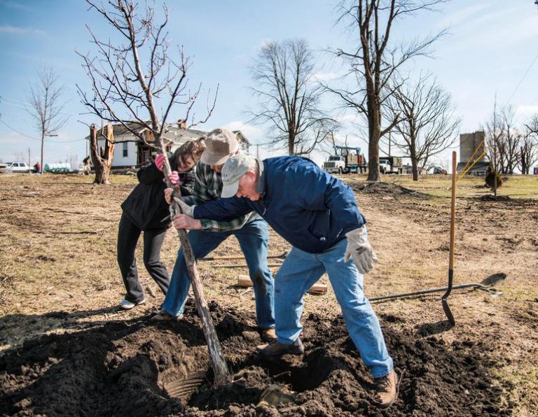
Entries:
[[[194,184],[194,191],[191,195],[183,199],[184,202],[192,206],[193,204],[200,205],[221,198],[222,178],[219,172],[216,172],[209,165],[198,162],[196,165],[195,176],[196,182]],[[200,219],[200,222],[202,223],[202,229],[204,230],[223,232],[226,230],[240,229],[247,224],[247,222],[251,222],[258,217],[258,213],[252,211],[251,213],[242,215],[230,222],[219,222],[207,219]]]

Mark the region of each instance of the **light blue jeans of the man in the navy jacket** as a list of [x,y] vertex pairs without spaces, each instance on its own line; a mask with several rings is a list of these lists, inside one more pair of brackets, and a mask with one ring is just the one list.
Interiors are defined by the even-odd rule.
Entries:
[[[347,239],[322,253],[293,248],[275,276],[277,340],[292,344],[301,334],[303,295],[326,271],[342,309],[347,331],[374,378],[389,374],[393,364],[372,306],[363,292],[363,276],[353,260],[344,262]],[[170,290],[169,290],[170,291]]]

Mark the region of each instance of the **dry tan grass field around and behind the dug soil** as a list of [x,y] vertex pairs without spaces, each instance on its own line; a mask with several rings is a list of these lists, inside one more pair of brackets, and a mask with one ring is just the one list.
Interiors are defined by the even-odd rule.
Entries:
[[[366,295],[446,285],[450,178],[428,176],[413,183],[408,176],[385,176],[387,185],[374,187],[366,187],[364,176],[342,178],[355,190],[380,259],[365,278]],[[83,332],[112,322],[137,323],[162,302],[163,295],[144,270],[139,248],[139,272],[149,302],[128,312],[116,308],[124,295],[116,264],[120,203],[136,178],[113,176],[108,186],[92,185],[91,179],[0,176],[0,355],[46,334]],[[400,185],[416,192],[402,192]],[[509,414],[536,415],[538,178],[510,177],[497,201],[482,185],[481,178],[472,177],[458,183],[455,283],[478,283],[504,273],[506,281],[497,286],[502,295],[454,290],[449,304],[456,325],[451,328],[444,321],[441,293],[378,302],[374,309],[384,328],[417,340],[435,338],[447,346],[479,342],[492,360],[487,371],[502,391],[499,404]],[[288,248],[280,236],[271,234],[271,255]],[[177,235],[171,229],[162,253],[170,270],[177,249]],[[235,239],[213,253],[239,254]],[[237,274],[247,270],[223,269],[219,263],[199,262],[207,299],[254,323],[252,292],[233,285]],[[329,283],[326,276],[322,281]],[[305,296],[303,316],[310,313],[326,319],[340,314],[330,288],[326,295]]]

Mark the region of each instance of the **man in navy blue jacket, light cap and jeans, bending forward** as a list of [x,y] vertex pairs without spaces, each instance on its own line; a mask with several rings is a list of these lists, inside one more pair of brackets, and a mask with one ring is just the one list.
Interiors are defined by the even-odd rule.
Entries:
[[350,337],[377,382],[378,405],[389,407],[396,400],[397,376],[363,292],[363,274],[378,259],[352,190],[302,157],[261,161],[237,155],[224,164],[222,180],[223,199],[182,204],[184,214],[174,216],[177,229],[196,229],[197,219],[228,221],[256,211],[294,246],[275,277],[277,341],[258,351],[265,356],[303,353],[303,295],[327,272]]

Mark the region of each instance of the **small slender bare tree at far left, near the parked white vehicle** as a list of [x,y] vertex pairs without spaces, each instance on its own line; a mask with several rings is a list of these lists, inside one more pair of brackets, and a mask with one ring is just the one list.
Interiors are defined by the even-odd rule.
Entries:
[[57,132],[62,129],[68,118],[62,115],[62,111],[64,110],[62,94],[65,91],[65,86],[60,85],[55,71],[46,68],[38,71],[38,76],[39,82],[30,85],[28,113],[34,119],[36,129],[41,133],[40,172],[43,173],[45,137],[57,136]]

